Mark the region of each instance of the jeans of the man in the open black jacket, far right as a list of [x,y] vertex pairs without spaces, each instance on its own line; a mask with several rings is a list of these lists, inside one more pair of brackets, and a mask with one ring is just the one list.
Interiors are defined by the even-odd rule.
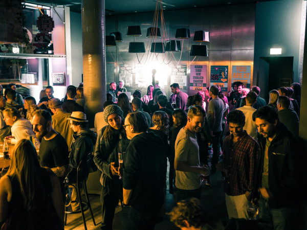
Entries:
[[272,223],[275,230],[291,229],[290,214],[291,207],[270,209],[269,201],[260,197],[258,218],[267,223]]

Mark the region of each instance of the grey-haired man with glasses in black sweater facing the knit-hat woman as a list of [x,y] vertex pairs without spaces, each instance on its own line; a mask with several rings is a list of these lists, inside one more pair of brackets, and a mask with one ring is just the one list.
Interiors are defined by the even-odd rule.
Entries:
[[164,144],[155,133],[147,132],[141,112],[129,113],[124,127],[131,141],[124,157],[123,229],[154,229],[164,201]]

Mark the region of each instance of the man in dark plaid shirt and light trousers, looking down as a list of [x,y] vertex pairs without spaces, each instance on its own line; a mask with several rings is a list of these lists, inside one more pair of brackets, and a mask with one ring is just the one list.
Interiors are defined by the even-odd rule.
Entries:
[[259,146],[247,134],[244,113],[232,110],[227,116],[229,130],[223,144],[226,206],[229,218],[248,219],[248,204],[254,191]]

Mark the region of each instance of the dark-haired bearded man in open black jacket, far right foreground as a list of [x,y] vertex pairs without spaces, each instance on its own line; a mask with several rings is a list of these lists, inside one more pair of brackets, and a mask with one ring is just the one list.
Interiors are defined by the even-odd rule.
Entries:
[[270,106],[253,113],[261,149],[258,167],[259,218],[274,229],[290,229],[290,214],[297,197],[297,152],[289,129]]

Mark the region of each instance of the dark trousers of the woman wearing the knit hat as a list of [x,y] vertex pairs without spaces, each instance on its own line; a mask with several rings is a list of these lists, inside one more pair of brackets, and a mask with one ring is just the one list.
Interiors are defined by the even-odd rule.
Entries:
[[118,185],[111,180],[108,186],[102,186],[100,203],[102,212],[101,229],[112,229],[112,223],[115,213],[115,208],[118,204],[118,200],[122,200],[122,194],[119,192],[121,185]]

